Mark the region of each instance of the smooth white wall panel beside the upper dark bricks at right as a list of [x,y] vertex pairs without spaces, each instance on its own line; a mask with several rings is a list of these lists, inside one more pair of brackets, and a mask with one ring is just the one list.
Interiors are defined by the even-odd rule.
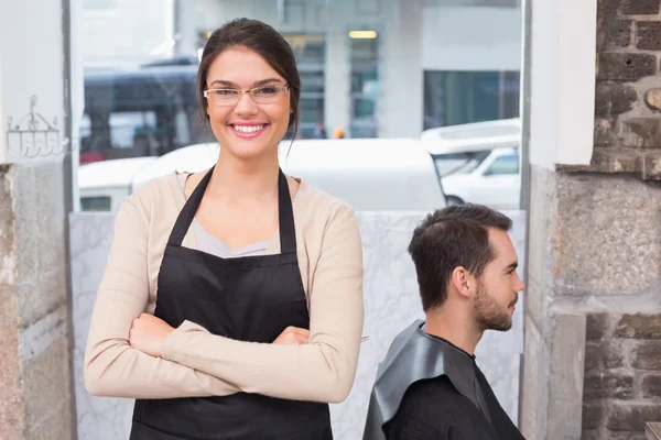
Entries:
[[587,165],[593,152],[597,0],[532,1],[530,163]]

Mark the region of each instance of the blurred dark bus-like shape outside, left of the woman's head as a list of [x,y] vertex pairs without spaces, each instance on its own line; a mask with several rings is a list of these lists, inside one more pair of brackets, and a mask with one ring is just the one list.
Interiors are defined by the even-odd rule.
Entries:
[[197,111],[197,66],[87,72],[80,163],[159,156],[210,142]]

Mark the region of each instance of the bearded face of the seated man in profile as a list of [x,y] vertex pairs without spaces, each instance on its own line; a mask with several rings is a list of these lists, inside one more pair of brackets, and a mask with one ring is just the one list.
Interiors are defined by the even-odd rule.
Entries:
[[517,252],[508,233],[489,229],[489,243],[495,258],[478,280],[473,302],[475,319],[483,330],[507,331],[512,327],[514,304],[524,285],[517,274]]

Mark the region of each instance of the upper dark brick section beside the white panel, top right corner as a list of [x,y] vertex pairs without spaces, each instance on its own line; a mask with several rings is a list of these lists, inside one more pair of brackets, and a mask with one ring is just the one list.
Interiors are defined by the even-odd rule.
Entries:
[[661,180],[661,0],[598,0],[595,150],[588,167]]

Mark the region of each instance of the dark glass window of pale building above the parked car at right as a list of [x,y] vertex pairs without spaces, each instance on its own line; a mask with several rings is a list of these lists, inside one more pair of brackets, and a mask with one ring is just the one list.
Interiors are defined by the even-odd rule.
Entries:
[[518,72],[425,72],[424,129],[519,116]]

